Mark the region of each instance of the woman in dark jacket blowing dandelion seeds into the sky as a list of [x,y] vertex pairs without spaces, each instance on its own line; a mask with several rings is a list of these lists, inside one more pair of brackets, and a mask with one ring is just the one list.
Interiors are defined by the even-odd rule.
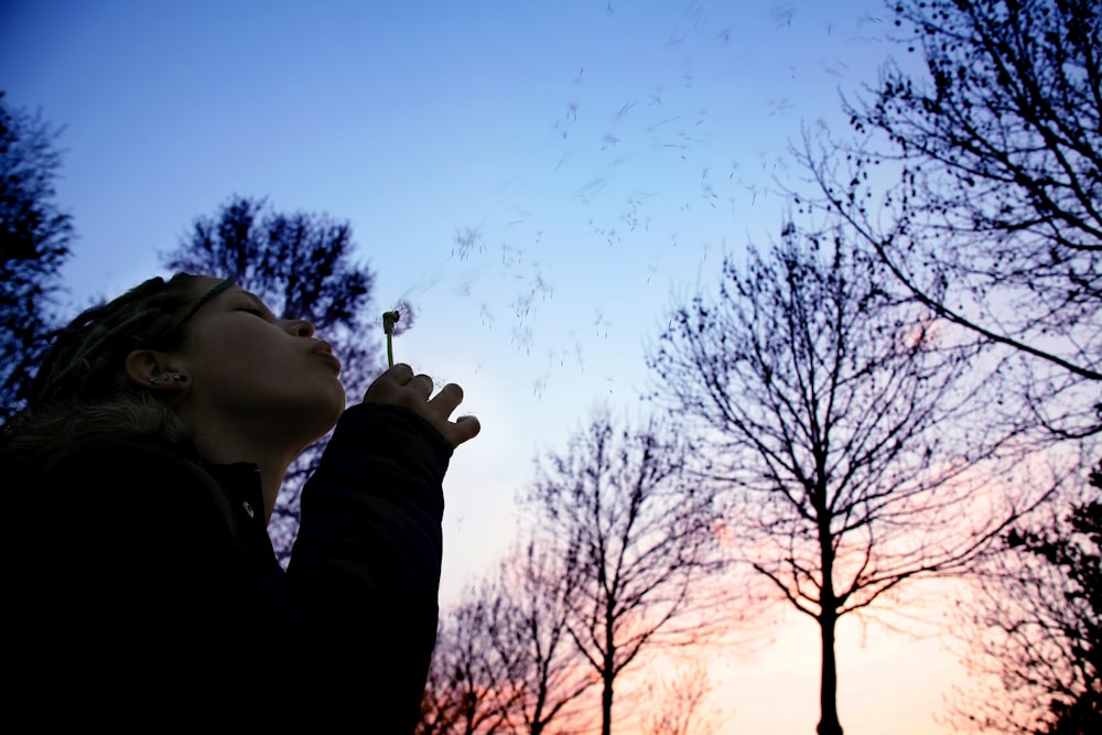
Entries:
[[[431,397],[406,365],[345,410],[339,371],[309,322],[204,275],[58,333],[0,455],[9,704],[154,732],[413,731],[441,485],[479,424],[450,419],[458,386]],[[334,426],[284,573],[266,528],[280,484]]]

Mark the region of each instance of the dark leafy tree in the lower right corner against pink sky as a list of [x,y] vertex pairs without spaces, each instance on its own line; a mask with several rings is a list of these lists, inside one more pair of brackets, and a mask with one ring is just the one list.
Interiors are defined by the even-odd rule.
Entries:
[[960,633],[983,677],[951,709],[960,729],[1102,732],[1102,463],[1065,518],[1004,538]]

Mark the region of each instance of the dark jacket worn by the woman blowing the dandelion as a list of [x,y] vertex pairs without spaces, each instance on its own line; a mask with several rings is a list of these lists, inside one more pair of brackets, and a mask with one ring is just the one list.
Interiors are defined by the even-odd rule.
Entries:
[[411,733],[450,456],[409,411],[348,409],[285,573],[253,465],[97,435],[46,467],[4,466],[3,710],[143,732]]

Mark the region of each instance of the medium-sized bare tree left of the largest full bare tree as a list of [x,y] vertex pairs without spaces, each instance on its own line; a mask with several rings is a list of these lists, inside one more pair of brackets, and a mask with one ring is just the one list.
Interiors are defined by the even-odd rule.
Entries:
[[620,429],[597,411],[565,452],[538,463],[528,500],[559,540],[568,629],[601,678],[609,735],[624,669],[709,631],[694,585],[719,563],[713,498],[685,474],[685,446],[660,420]]

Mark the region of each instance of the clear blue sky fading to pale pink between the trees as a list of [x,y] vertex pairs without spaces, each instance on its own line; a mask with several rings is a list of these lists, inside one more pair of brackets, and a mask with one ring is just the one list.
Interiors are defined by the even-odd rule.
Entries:
[[[0,89],[63,127],[84,303],[164,274],[233,195],[348,220],[396,358],[463,386],[442,603],[512,538],[540,453],[642,410],[647,346],[724,256],[765,246],[804,128],[890,56],[879,0],[0,0]],[[719,735],[813,732],[818,629],[716,653]],[[929,735],[960,667],[844,620],[847,735]]]

